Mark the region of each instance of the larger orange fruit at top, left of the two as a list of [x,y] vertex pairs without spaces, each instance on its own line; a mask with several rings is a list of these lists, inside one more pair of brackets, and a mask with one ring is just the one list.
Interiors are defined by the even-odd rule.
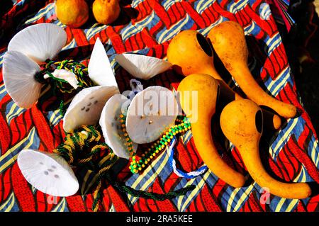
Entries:
[[84,0],[57,0],[55,13],[61,23],[79,28],[89,19],[89,6]]

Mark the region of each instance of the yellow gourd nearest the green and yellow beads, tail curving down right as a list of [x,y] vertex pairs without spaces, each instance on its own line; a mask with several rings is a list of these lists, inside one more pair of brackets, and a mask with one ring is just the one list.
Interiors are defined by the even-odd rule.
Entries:
[[181,81],[178,91],[181,108],[191,120],[191,132],[203,162],[230,186],[243,186],[245,177],[221,159],[211,135],[211,118],[216,111],[219,93],[218,81],[208,74],[191,74]]

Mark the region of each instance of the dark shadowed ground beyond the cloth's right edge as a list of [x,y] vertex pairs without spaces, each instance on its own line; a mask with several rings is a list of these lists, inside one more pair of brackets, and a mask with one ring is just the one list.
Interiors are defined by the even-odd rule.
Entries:
[[289,14],[296,22],[290,32],[288,33],[281,24],[277,26],[285,45],[298,94],[318,133],[319,18],[311,0],[292,0]]

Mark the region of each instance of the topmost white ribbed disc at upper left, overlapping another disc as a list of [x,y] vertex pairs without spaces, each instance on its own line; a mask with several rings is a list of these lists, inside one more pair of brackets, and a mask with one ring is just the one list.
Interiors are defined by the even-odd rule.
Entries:
[[18,32],[10,40],[9,51],[22,52],[35,62],[52,60],[65,46],[67,33],[53,23],[39,23]]

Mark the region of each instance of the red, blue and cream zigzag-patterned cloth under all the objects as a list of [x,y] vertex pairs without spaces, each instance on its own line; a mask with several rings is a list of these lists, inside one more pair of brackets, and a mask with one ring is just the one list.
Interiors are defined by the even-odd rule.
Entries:
[[[284,45],[276,28],[269,4],[262,0],[240,1],[122,1],[121,19],[112,26],[101,26],[91,19],[82,29],[67,28],[57,21],[53,1],[13,1],[1,14],[0,67],[10,38],[26,26],[35,23],[55,23],[65,28],[67,45],[58,57],[74,58],[87,64],[96,38],[100,38],[116,69],[121,91],[129,88],[132,78],[113,59],[121,52],[138,52],[164,58],[174,35],[186,29],[207,35],[222,21],[237,21],[249,37],[250,69],[264,83],[270,94],[286,103],[293,103],[300,112],[298,118],[286,120],[279,132],[267,133],[262,139],[262,159],[273,176],[284,181],[319,182],[318,138],[303,110],[296,91]],[[2,4],[2,3],[1,3]],[[194,56],[196,57],[196,56]],[[172,70],[159,74],[145,86],[161,85],[176,89],[181,77]],[[43,96],[49,96],[49,94]],[[54,97],[43,105],[26,110],[18,108],[6,93],[0,72],[0,211],[91,211],[92,191],[90,171],[79,169],[79,193],[67,198],[52,198],[37,191],[23,178],[16,164],[21,149],[32,148],[52,152],[62,141],[62,116],[57,108],[48,108]],[[234,169],[245,173],[238,150],[224,140],[218,140],[223,159]],[[194,171],[203,166],[191,132],[179,140],[175,150],[179,169]],[[166,193],[194,184],[196,189],[172,200],[155,201],[119,193],[113,186],[103,189],[101,211],[318,211],[319,196],[304,200],[289,200],[270,196],[265,203],[262,188],[250,186],[234,189],[211,171],[195,179],[181,179],[168,162],[167,149],[142,174],[130,174],[128,162],[118,164],[114,171],[118,181],[143,191]],[[86,193],[82,195],[82,193]]]

